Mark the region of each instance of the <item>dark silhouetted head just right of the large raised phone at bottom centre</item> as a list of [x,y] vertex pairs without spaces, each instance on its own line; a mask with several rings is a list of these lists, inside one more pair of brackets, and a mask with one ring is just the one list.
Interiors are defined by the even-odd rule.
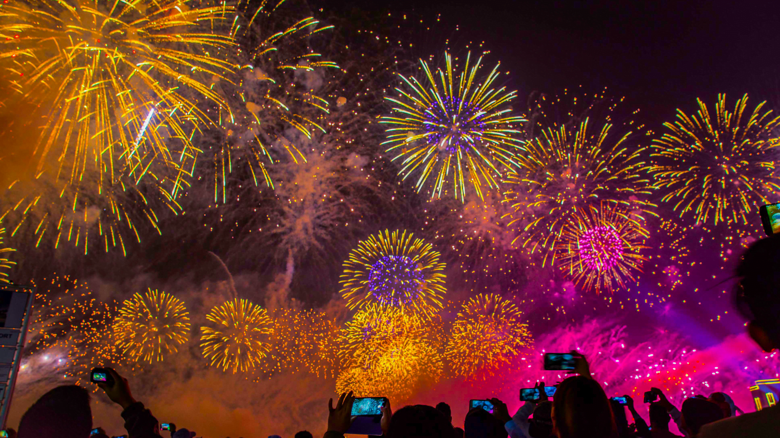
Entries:
[[437,408],[426,404],[404,406],[393,412],[388,438],[452,438],[452,424]]

